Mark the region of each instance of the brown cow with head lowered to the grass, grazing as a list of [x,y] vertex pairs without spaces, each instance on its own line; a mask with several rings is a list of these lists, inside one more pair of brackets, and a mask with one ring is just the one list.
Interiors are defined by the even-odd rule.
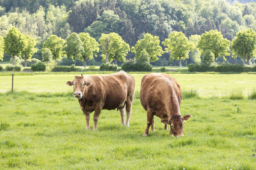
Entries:
[[147,136],[151,125],[154,129],[154,115],[161,118],[164,130],[170,125],[170,135],[183,136],[183,121],[188,120],[191,115],[182,117],[180,115],[180,102],[182,92],[175,78],[164,73],[150,73],[143,76],[141,80],[140,101],[147,111],[147,128],[144,136]]

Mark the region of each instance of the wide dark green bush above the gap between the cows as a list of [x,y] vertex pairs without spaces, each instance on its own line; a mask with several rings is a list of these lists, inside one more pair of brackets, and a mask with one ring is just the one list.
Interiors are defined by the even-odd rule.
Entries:
[[148,62],[140,60],[126,60],[121,68],[124,71],[152,71],[152,66]]

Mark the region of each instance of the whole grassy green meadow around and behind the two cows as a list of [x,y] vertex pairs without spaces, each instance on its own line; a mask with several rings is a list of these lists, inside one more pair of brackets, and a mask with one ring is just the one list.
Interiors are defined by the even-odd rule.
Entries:
[[74,74],[20,74],[13,93],[11,77],[0,76],[1,169],[256,169],[255,98],[248,97],[256,74],[172,74],[184,91],[181,113],[192,115],[183,138],[170,137],[159,118],[156,132],[143,136],[143,75],[132,74],[130,127],[121,126],[118,111],[103,110],[98,131],[85,130],[65,85]]

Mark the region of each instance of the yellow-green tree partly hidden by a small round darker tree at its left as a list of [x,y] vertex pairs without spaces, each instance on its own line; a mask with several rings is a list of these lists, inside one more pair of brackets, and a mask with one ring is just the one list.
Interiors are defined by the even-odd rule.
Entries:
[[43,49],[49,48],[49,50],[51,50],[51,53],[52,53],[52,59],[54,59],[56,61],[56,60],[61,59],[62,56],[65,54],[63,52],[64,43],[65,43],[64,39],[62,39],[56,35],[51,35],[51,36],[49,36],[49,38],[47,38],[44,41]]

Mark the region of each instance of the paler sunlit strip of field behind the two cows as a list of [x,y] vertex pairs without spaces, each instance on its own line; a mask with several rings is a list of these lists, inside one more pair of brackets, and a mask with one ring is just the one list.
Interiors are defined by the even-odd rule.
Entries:
[[[85,73],[85,75],[91,75]],[[100,74],[100,73],[97,73]],[[26,75],[26,74],[25,74]],[[29,92],[69,92],[72,88],[65,82],[73,80],[74,75],[69,74],[30,74],[14,76],[14,89]],[[134,73],[136,91],[140,91],[140,81],[144,74]],[[177,74],[171,73],[176,78],[182,90],[196,90],[200,97],[230,96],[239,92],[248,96],[256,89],[256,74]],[[0,76],[0,92],[7,92],[12,88],[12,76]]]

